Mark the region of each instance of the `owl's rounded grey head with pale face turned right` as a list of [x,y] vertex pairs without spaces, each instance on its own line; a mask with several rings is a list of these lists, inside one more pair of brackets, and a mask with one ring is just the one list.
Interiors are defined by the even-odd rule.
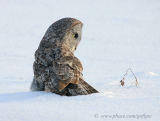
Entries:
[[62,18],[46,31],[40,47],[65,47],[74,52],[81,40],[82,22],[74,18]]

